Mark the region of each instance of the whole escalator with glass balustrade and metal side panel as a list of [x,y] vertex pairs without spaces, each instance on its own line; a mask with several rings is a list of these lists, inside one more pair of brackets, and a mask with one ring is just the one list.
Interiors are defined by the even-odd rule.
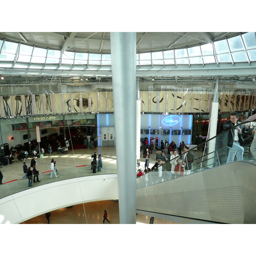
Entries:
[[[243,122],[189,150],[194,156],[190,174],[180,167],[189,165],[183,153],[166,161],[162,172],[156,169],[138,177],[137,212],[167,220],[179,218],[180,223],[256,223],[256,160],[251,154],[255,125]],[[228,134],[235,136],[237,127],[244,137],[242,160],[237,160],[236,150],[224,145]],[[230,155],[233,161],[226,163]]]

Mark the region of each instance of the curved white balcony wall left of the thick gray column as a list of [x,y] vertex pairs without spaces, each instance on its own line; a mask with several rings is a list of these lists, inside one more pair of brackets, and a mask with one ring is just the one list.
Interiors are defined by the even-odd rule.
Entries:
[[61,180],[0,199],[0,224],[18,224],[55,209],[118,199],[117,175]]

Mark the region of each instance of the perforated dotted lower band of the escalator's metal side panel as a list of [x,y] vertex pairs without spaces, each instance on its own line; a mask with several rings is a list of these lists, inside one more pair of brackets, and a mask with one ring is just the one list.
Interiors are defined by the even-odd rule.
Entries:
[[137,197],[137,204],[170,211],[244,215],[246,222],[256,223],[256,194],[243,186]]

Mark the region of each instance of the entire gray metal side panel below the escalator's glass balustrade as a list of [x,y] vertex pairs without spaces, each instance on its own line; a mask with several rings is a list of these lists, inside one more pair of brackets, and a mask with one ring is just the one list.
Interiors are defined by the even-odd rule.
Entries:
[[137,209],[221,223],[256,223],[256,164],[243,160],[137,189]]

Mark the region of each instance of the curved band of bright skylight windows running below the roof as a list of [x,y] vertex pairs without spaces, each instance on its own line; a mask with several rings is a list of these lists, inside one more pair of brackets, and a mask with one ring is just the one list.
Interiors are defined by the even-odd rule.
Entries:
[[[243,45],[244,42],[244,45]],[[215,63],[213,44],[189,47],[187,49],[175,49],[176,64],[203,64]],[[234,62],[248,62],[245,51],[248,52],[250,61],[256,61],[256,36],[255,32],[248,32],[234,38],[214,42],[216,54],[219,62],[231,62],[233,55]],[[246,49],[244,49],[244,46]],[[0,40],[0,61],[14,61],[17,54],[17,43]],[[230,48],[230,51],[229,51]],[[255,50],[254,50],[255,49]],[[241,52],[244,51],[244,52]],[[188,54],[187,54],[188,53]],[[224,55],[223,55],[224,54]],[[226,55],[225,55],[226,54]],[[40,47],[31,47],[20,44],[20,49],[17,56],[18,62],[40,63],[40,64],[58,64],[61,58],[61,64],[68,65],[111,65],[111,54],[94,54],[82,52],[64,52],[61,54],[60,50],[43,49]],[[196,58],[194,58],[196,57]],[[188,61],[188,59],[190,61]],[[146,52],[136,54],[136,65],[172,65],[174,61],[174,50],[159,51],[159,52]]]

